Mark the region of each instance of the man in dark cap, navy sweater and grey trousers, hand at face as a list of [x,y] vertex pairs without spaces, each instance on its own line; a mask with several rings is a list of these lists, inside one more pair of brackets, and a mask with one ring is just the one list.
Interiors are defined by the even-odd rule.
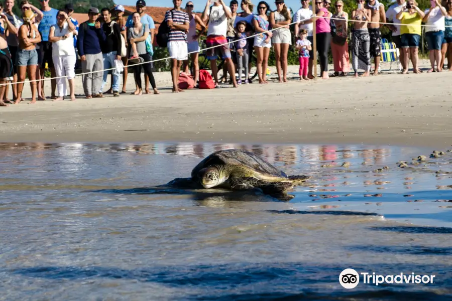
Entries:
[[100,48],[105,43],[105,33],[98,20],[99,10],[88,10],[88,21],[80,24],[77,38],[78,54],[82,65],[82,72],[89,72],[83,77],[83,90],[86,98],[103,97],[100,92],[103,78],[103,56]]

